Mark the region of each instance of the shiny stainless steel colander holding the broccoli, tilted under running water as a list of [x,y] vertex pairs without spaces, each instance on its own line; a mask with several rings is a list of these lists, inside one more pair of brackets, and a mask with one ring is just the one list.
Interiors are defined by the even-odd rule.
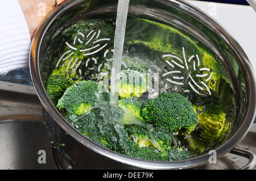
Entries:
[[[228,132],[198,157],[144,161],[102,148],[61,116],[47,95],[47,79],[55,70],[74,81],[98,81],[110,74],[117,2],[61,3],[35,34],[31,75],[53,148],[76,169],[191,168],[207,163],[209,150],[215,150],[217,158],[232,150],[255,117],[255,75],[246,54],[224,28],[183,1],[130,1],[121,68],[141,70],[150,77],[145,99],[176,91],[191,100],[199,115],[220,103],[225,120],[219,121],[225,121]],[[201,138],[207,141],[206,136]]]

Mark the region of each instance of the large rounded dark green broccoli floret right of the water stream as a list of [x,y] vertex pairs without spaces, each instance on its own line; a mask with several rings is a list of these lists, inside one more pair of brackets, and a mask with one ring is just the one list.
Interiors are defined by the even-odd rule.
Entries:
[[170,132],[182,128],[189,133],[198,124],[191,102],[177,92],[162,92],[156,99],[147,99],[143,103],[141,115],[146,123]]

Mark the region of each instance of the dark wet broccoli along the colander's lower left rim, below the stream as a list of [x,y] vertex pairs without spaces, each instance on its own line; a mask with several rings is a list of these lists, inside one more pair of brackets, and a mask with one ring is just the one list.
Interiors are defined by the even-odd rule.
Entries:
[[127,138],[127,133],[117,123],[105,120],[104,113],[106,110],[96,107],[82,116],[69,114],[65,119],[90,140],[110,150],[123,153],[125,147],[122,145],[122,140]]

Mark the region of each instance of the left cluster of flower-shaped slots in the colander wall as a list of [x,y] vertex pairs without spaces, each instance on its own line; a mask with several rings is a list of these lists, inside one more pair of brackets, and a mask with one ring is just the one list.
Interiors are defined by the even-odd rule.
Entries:
[[[114,52],[114,50],[107,49],[104,52],[104,57],[107,62],[98,64],[99,62],[97,61],[97,58],[93,57],[96,55],[98,52],[101,50],[104,50],[108,46],[108,41],[110,41],[110,38],[100,38],[101,35],[101,27],[98,27],[98,31],[96,30],[97,28],[94,28],[92,31],[90,31],[87,35],[84,35],[82,32],[78,32],[75,38],[73,39],[72,43],[69,43],[68,41],[65,42],[65,44],[68,47],[68,50],[64,52],[61,57],[59,58],[56,68],[60,68],[61,66],[67,66],[66,73],[72,74],[74,73],[80,66],[82,62],[81,57],[85,56],[90,56],[88,60],[85,61],[85,67],[88,70],[93,70],[96,69],[98,73],[101,75],[106,75],[110,71],[110,65],[107,63],[109,61],[112,61],[113,58],[107,58],[107,54],[110,52]],[[78,48],[81,47],[80,45],[84,45],[85,48]],[[90,45],[90,47],[89,47]],[[76,60],[74,60],[74,53],[81,52],[81,56],[77,57]],[[98,55],[98,54],[97,54]],[[89,62],[93,63],[93,66],[89,66]],[[68,65],[67,65],[68,64]],[[92,65],[92,64],[90,64]],[[125,62],[122,62],[122,65],[125,66]],[[108,71],[102,71],[103,67],[106,67]],[[79,69],[79,72],[81,74],[81,69]]]

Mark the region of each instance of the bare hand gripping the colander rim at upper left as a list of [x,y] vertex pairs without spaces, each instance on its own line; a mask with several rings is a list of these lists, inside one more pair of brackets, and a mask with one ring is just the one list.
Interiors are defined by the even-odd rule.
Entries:
[[[56,3],[65,0],[57,0]],[[55,7],[55,0],[19,0],[23,14],[26,18],[31,39],[44,17]]]

